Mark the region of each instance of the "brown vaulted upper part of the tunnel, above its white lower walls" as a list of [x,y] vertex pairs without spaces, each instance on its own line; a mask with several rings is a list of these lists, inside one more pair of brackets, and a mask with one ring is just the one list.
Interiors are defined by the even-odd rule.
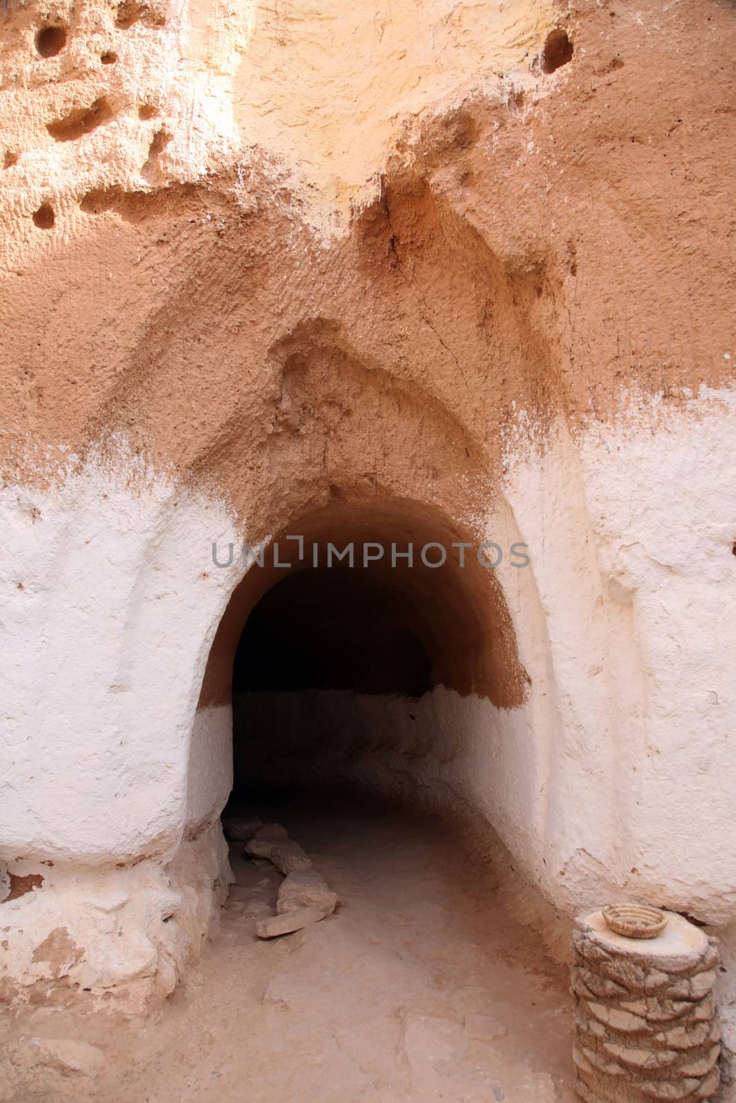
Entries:
[[[301,563],[297,543],[287,540],[288,535],[303,537]],[[461,553],[454,547],[459,543],[467,546],[463,566]],[[314,544],[317,569],[312,566]],[[354,566],[333,559],[327,569],[328,544],[340,552],[352,544]],[[383,549],[381,558],[367,567],[363,566],[365,544]],[[403,555],[409,544],[412,565]],[[423,563],[422,549],[429,544],[446,549],[441,566]],[[274,565],[277,545],[278,561],[291,567]],[[234,664],[237,688],[248,692],[310,686],[416,694],[441,685],[463,696],[488,697],[501,708],[521,705],[529,678],[519,662],[498,578],[479,563],[477,546],[472,535],[447,517],[410,501],[382,505],[339,501],[297,518],[265,548],[264,566],[254,564],[235,589],[212,645],[200,707],[230,702]],[[377,555],[375,550],[370,554]],[[440,558],[437,548],[427,550],[427,560]],[[268,591],[273,592],[266,597]],[[263,608],[256,608],[262,599]],[[252,615],[255,619],[236,661]],[[260,646],[255,645],[256,633]],[[399,667],[391,673],[392,654],[399,666],[406,666],[408,681],[402,681]],[[287,673],[296,658],[306,664],[297,682],[294,671]]]

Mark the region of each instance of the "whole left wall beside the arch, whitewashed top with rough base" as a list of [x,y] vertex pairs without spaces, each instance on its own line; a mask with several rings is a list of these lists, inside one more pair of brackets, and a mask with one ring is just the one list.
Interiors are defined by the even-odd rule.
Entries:
[[243,574],[212,561],[233,522],[125,450],[7,486],[0,511],[0,990],[61,981],[137,1008],[173,987],[230,876],[228,709],[195,716]]

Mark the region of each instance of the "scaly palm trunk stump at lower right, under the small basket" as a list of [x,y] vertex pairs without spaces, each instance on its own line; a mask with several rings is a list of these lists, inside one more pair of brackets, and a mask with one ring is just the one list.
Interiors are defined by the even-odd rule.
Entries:
[[575,924],[576,1089],[586,1103],[703,1103],[718,1089],[715,942],[673,912],[654,939]]

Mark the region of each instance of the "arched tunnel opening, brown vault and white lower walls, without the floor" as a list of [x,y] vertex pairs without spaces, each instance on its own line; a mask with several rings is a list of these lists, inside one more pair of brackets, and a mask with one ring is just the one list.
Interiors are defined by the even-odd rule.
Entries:
[[[279,823],[322,853],[326,838],[352,834],[369,863],[359,805],[371,823],[376,807],[380,818],[439,814],[450,829],[492,823],[527,677],[497,549],[481,552],[431,506],[339,496],[246,547],[190,757],[190,792],[204,794],[196,823],[209,793],[224,797],[232,754],[223,820],[241,888],[257,875],[234,816]],[[402,846],[395,835],[390,849]]]

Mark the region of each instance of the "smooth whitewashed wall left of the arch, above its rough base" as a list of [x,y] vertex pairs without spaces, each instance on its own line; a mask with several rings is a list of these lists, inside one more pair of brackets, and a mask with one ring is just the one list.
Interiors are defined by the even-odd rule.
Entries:
[[241,570],[214,568],[211,543],[231,531],[222,503],[125,454],[0,492],[0,858],[178,845],[202,673]]

